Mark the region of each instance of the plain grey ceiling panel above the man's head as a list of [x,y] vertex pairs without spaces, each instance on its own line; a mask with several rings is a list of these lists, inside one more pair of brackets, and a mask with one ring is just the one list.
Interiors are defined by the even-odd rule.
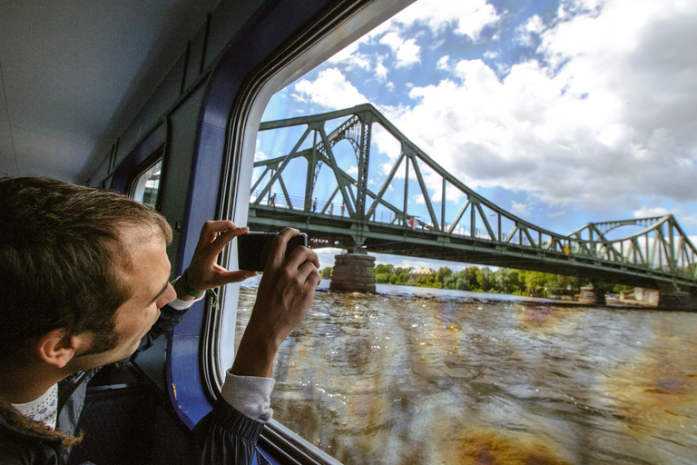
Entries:
[[215,4],[3,2],[0,173],[83,181]]

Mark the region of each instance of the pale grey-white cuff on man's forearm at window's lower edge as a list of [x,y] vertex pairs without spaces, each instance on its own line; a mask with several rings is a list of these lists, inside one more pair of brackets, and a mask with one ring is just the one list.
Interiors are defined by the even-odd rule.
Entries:
[[266,423],[273,416],[270,405],[271,391],[275,384],[273,378],[237,376],[228,370],[222,384],[221,396],[243,415]]

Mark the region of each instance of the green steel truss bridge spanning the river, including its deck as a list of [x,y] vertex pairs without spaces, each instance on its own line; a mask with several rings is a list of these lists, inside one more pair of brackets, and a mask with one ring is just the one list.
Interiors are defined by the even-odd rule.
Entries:
[[[252,230],[290,225],[315,247],[552,272],[675,295],[697,289],[697,250],[671,214],[547,231],[447,173],[370,104],[262,123],[260,134],[267,131],[291,148],[254,163]],[[371,164],[372,139],[386,134],[400,150],[389,163],[380,163],[382,155]],[[413,214],[414,199],[425,205],[423,216]],[[629,235],[608,239],[628,226]]]

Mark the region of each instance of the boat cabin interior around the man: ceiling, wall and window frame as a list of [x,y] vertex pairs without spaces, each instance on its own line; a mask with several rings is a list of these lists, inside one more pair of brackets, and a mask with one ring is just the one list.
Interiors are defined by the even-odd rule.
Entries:
[[[175,232],[175,277],[203,222],[245,222],[270,96],[410,3],[5,2],[0,173],[113,189],[151,205]],[[236,304],[234,291],[221,299]],[[220,394],[220,320],[199,302],[152,350],[103,369],[81,418],[95,434],[71,463],[176,463]],[[260,448],[273,463],[338,463],[278,423]]]

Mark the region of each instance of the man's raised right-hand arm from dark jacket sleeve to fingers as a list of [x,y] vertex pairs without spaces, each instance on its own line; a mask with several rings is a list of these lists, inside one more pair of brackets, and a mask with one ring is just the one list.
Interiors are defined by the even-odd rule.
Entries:
[[270,376],[276,352],[307,314],[320,282],[315,252],[298,247],[285,258],[288,241],[298,234],[286,228],[274,240],[221,399],[193,430],[189,463],[242,464],[254,456],[263,423],[271,416]]

